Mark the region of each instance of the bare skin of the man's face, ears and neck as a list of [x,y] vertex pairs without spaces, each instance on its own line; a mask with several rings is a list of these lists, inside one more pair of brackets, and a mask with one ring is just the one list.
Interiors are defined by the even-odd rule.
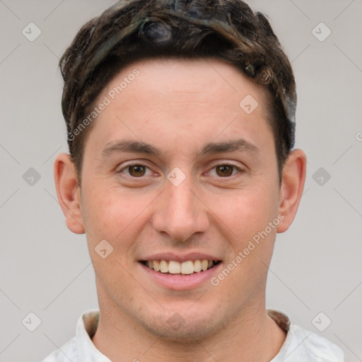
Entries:
[[[95,269],[100,322],[93,343],[115,362],[270,361],[286,336],[266,313],[267,267],[276,233],[296,215],[305,154],[290,153],[279,182],[263,89],[217,59],[136,62],[95,104],[133,69],[140,75],[88,134],[81,187],[69,155],[54,164],[66,225],[86,233]],[[249,115],[239,106],[246,95],[259,103]],[[202,153],[210,142],[239,139],[256,150]],[[103,152],[124,140],[159,154]],[[147,167],[144,176],[129,174],[132,162]],[[220,165],[235,168],[224,176]],[[186,177],[179,186],[167,178],[175,167]],[[165,288],[139,263],[156,252],[204,252],[221,260],[219,273],[278,215],[279,225],[218,286],[208,280],[182,291]],[[113,247],[105,259],[95,252],[100,240]],[[183,320],[176,330],[168,324],[175,313]]]

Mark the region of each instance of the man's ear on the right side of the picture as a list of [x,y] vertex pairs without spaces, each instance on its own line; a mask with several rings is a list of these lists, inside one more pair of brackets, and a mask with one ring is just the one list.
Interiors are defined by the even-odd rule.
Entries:
[[291,151],[283,168],[281,180],[279,214],[284,219],[276,229],[278,233],[284,233],[296,217],[300,198],[303,194],[307,158],[305,153],[296,149]]

